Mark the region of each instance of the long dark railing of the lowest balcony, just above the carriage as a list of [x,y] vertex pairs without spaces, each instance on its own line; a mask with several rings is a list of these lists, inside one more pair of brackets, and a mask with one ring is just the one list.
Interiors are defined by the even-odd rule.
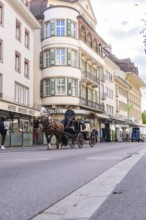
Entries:
[[94,108],[96,110],[104,111],[104,104],[99,104],[99,103],[96,103],[96,102],[93,102],[93,101],[90,101],[90,100],[87,100],[87,99],[81,98],[80,99],[80,104],[84,105],[84,106]]

